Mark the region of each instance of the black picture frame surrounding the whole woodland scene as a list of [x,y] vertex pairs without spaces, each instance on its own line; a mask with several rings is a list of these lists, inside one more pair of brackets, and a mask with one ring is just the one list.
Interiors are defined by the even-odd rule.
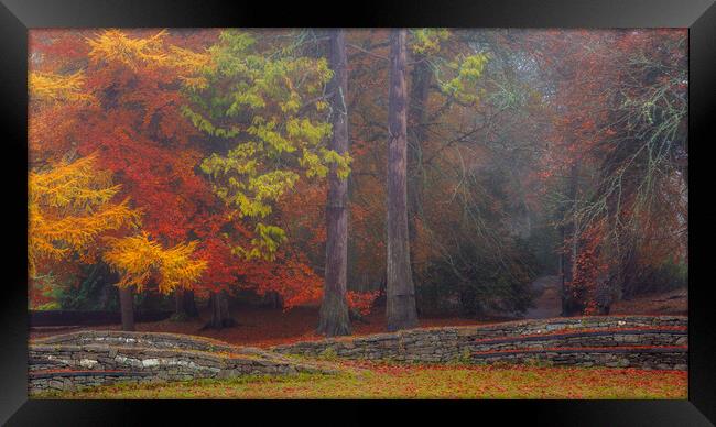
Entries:
[[[326,9],[330,8],[330,9]],[[330,12],[329,12],[330,11]],[[482,26],[482,28],[688,28],[690,98],[690,352],[687,401],[469,401],[469,402],[214,402],[29,401],[26,296],[26,79],[28,30],[99,26]],[[389,418],[460,423],[595,426],[706,426],[716,423],[716,335],[707,252],[714,215],[707,205],[710,113],[716,103],[716,6],[712,0],[404,0],[330,4],[215,0],[0,0],[0,105],[3,174],[0,296],[0,423],[8,425],[228,423],[382,424]],[[709,120],[710,119],[710,120]],[[695,152],[694,152],[695,149]],[[694,155],[694,153],[696,153]],[[712,177],[713,182],[713,177]],[[696,193],[694,194],[694,183]],[[713,191],[713,185],[712,191]],[[6,201],[7,200],[7,201]],[[701,200],[701,201],[699,201]],[[704,209],[708,212],[708,207]],[[694,216],[694,212],[696,214]],[[712,211],[713,212],[713,211]],[[696,231],[697,230],[697,231]],[[699,243],[704,243],[698,247]],[[8,274],[10,273],[10,274]],[[695,275],[694,275],[695,273]],[[336,410],[327,415],[326,409]],[[380,410],[380,414],[378,413]],[[262,420],[250,420],[251,415]],[[321,417],[328,417],[322,419]],[[495,418],[497,417],[497,418]],[[421,423],[421,424],[422,424]],[[496,423],[496,424],[497,424]]]

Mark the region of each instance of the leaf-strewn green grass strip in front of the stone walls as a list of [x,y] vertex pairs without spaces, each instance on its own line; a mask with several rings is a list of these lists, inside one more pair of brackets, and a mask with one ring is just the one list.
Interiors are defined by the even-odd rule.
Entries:
[[[685,372],[604,368],[347,364],[337,375],[115,384],[43,398],[686,398]],[[354,369],[358,368],[358,369]]]

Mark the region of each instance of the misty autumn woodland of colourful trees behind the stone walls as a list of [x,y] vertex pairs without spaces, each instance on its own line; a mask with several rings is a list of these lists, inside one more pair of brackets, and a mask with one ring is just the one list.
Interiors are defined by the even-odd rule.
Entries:
[[[32,310],[562,316],[687,283],[685,30],[30,31]],[[239,310],[240,313],[240,310]],[[238,321],[238,326],[237,326]]]

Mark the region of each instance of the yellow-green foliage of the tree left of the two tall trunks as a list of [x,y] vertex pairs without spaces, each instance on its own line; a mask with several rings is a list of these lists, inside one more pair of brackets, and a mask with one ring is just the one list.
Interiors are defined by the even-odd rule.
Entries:
[[[345,179],[350,157],[326,146],[332,130],[324,89],[333,73],[325,58],[264,40],[223,32],[210,50],[215,67],[205,73],[209,85],[192,91],[183,112],[211,141],[215,153],[202,169],[215,194],[252,227],[249,239],[232,244],[234,252],[246,262],[283,258],[288,263],[301,255],[281,249],[288,238],[276,225],[279,202],[302,176],[325,178],[332,165]],[[265,280],[271,283],[270,276]],[[313,295],[311,289],[302,293]]]

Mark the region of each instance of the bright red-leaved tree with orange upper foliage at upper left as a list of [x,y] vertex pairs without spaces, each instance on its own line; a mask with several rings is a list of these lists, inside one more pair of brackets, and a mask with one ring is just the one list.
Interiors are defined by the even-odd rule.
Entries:
[[[36,67],[42,70],[37,73],[41,78],[31,79],[31,94],[50,98],[45,88],[59,86],[62,90],[51,100],[63,108],[53,111],[72,111],[74,125],[45,130],[54,114],[37,114],[31,120],[31,152],[40,153],[35,157],[59,158],[67,153],[96,153],[98,164],[120,177],[122,195],[142,209],[144,231],[163,245],[206,236],[225,212],[217,209],[221,205],[194,171],[202,157],[189,140],[195,130],[180,107],[183,87],[202,84],[196,75],[207,66],[208,55],[172,44],[174,39],[166,31],[143,30],[130,36],[109,30],[83,35],[37,37],[35,45],[43,56]],[[72,54],[57,55],[58,50]],[[206,240],[199,241],[198,249],[206,260],[220,259],[206,250]],[[211,275],[224,271],[211,266]],[[131,297],[121,300],[131,302]]]

